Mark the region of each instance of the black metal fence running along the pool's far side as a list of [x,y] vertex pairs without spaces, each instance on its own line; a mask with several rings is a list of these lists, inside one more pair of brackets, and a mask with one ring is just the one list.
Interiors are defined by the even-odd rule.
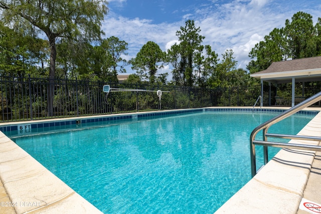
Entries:
[[[260,86],[244,88],[191,88],[148,84],[103,83],[80,80],[55,80],[52,111],[49,111],[48,79],[0,77],[0,122],[25,121],[86,115],[114,114],[163,109],[209,106],[253,106]],[[111,88],[146,91],[111,91]],[[163,91],[161,100],[156,92]],[[165,91],[169,91],[168,93]],[[48,112],[53,112],[51,115]]]

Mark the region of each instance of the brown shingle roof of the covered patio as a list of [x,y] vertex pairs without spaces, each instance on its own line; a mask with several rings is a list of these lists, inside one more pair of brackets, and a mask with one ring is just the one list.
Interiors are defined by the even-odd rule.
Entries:
[[273,62],[266,70],[256,72],[255,74],[267,74],[286,71],[302,71],[318,68],[321,69],[321,56]]

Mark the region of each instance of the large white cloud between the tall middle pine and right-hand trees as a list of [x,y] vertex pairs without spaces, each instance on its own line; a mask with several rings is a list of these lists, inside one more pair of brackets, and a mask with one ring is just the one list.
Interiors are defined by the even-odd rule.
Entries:
[[[206,37],[204,43],[211,45],[219,57],[225,50],[232,49],[241,68],[246,68],[251,60],[248,54],[255,44],[273,28],[283,26],[288,19],[285,14],[274,14],[268,8],[260,8],[266,6],[267,1],[258,2],[260,0],[249,4],[234,1],[221,5],[213,15],[207,9],[199,12],[207,14],[203,20],[200,19],[201,34]],[[253,4],[260,7],[253,7]]]

